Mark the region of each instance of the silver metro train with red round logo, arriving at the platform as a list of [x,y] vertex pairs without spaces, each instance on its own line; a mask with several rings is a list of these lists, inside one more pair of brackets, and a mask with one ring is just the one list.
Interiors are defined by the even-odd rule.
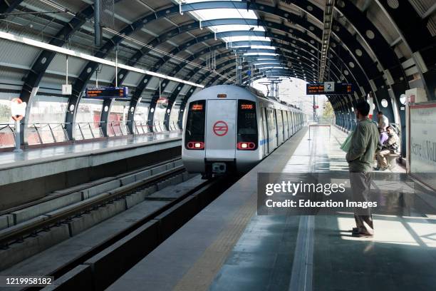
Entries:
[[186,108],[182,161],[188,172],[203,178],[249,171],[305,122],[299,108],[251,87],[204,88]]

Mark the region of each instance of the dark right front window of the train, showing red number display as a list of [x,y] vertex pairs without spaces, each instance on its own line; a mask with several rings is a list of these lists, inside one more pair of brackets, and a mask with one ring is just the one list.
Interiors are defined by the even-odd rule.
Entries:
[[256,103],[253,101],[239,100],[238,101],[238,123],[237,123],[237,142],[254,143],[257,148],[257,118],[256,118]]

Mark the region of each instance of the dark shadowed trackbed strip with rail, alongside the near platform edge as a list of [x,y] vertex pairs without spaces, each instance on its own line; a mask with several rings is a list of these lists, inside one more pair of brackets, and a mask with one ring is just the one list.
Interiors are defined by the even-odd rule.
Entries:
[[[85,252],[73,262],[63,265],[55,272],[46,274],[55,278],[55,285],[57,284],[57,286],[44,290],[79,290],[83,288],[87,290],[104,290],[233,183],[234,180],[228,178],[215,178],[204,181],[204,183],[192,188],[180,198],[155,211],[155,213],[147,215],[137,223],[120,231],[112,239],[96,245],[93,250]],[[157,224],[160,225],[160,229],[157,230],[160,233],[158,238],[147,235],[147,232],[151,233],[152,228],[154,228],[154,225],[150,224],[150,222],[155,221],[159,221]],[[136,234],[133,235],[135,232]],[[142,233],[142,235],[139,233]],[[147,240],[147,243],[144,240]],[[129,247],[130,245],[137,245],[142,248]],[[128,259],[126,260],[126,258]],[[104,262],[104,264],[101,262]],[[86,285],[83,285],[83,280],[78,280],[76,275],[68,275],[71,272],[75,273],[75,270],[84,265],[91,265],[90,270],[93,273],[90,276],[91,281],[86,282]],[[37,289],[33,287],[32,290]]]

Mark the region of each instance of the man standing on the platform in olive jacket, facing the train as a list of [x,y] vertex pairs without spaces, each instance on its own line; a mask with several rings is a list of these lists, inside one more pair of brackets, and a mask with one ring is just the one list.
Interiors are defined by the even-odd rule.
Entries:
[[[378,128],[368,118],[370,105],[366,101],[359,101],[355,106],[357,126],[351,136],[351,146],[348,149],[346,160],[350,170],[350,184],[353,191],[353,200],[369,201],[371,170],[376,150],[381,149]],[[355,236],[371,236],[374,234],[373,216],[370,208],[355,208],[354,219]]]

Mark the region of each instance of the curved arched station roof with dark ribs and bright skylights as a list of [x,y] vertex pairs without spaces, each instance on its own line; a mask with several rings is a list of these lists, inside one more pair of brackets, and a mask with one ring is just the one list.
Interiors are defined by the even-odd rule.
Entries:
[[[356,88],[352,96],[329,96],[337,114],[349,113],[353,102],[368,94],[375,97],[377,107],[382,99],[392,98],[401,106],[401,94],[411,87],[424,88],[429,100],[436,98],[436,14],[432,1],[187,2],[115,0],[115,21],[112,28],[103,30],[99,48],[93,45],[94,8],[90,0],[1,0],[0,25],[1,31],[14,36],[101,59],[114,60],[117,50],[120,63],[202,86],[234,80],[235,49],[246,53],[244,70],[258,63],[252,78],[269,74],[318,81],[323,49],[327,48],[324,76],[353,83]],[[332,9],[326,10],[329,5]],[[201,20],[199,11],[204,9],[214,9],[217,17]],[[235,9],[240,17],[219,16],[221,9]],[[240,11],[255,17],[245,18]],[[216,29],[224,26],[230,29]],[[250,29],[237,29],[243,26]],[[243,37],[248,41],[232,41]],[[4,52],[1,81],[9,91],[16,91],[31,103],[37,91],[53,95],[59,89],[65,78],[62,53],[4,38],[0,46]],[[216,68],[211,66],[211,56]],[[120,68],[115,78],[110,66],[73,58],[69,63],[73,93],[68,96],[68,108],[77,106],[81,92],[92,86],[96,70],[100,71],[100,83],[130,87],[130,107],[135,108],[138,102],[155,106],[160,96],[157,77]],[[165,78],[160,88],[170,99],[169,109],[173,104],[183,108],[197,90],[196,86]],[[74,116],[67,114],[66,122],[73,122]],[[152,119],[152,113],[149,116]]]

